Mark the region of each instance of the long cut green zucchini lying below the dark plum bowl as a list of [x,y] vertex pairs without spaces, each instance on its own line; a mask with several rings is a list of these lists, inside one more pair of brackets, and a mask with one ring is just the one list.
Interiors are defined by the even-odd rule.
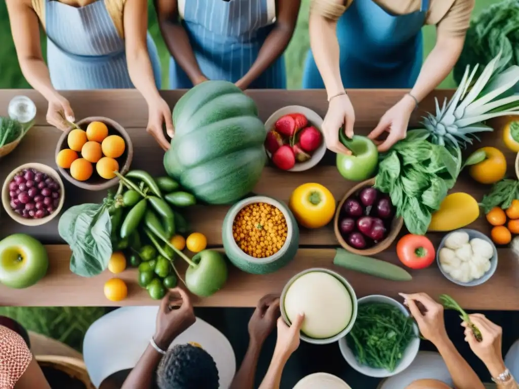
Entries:
[[391,281],[411,281],[413,279],[411,274],[399,266],[380,259],[352,254],[343,248],[337,248],[333,264]]

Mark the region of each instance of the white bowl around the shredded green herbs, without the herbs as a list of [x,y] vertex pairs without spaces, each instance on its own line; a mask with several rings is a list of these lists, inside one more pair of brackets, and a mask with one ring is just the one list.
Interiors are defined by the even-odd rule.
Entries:
[[[409,312],[407,309],[405,309],[404,305],[398,302],[397,300],[392,299],[391,297],[387,296],[381,296],[381,295],[370,295],[365,296],[359,299],[359,306],[365,303],[386,303],[391,304],[397,307],[400,311],[402,311],[403,314],[406,316],[409,316]],[[343,337],[339,340],[339,349],[340,352],[343,354],[344,359],[346,359],[346,362],[348,365],[350,365],[353,369],[357,370],[359,373],[364,374],[368,377],[376,377],[376,378],[385,378],[385,377],[391,377],[395,374],[400,373],[401,371],[405,370],[416,357],[416,354],[418,354],[418,349],[420,348],[420,337],[418,332],[418,326],[415,324],[415,334],[416,338],[409,343],[407,346],[407,349],[404,352],[404,356],[400,360],[400,363],[397,365],[397,368],[394,369],[394,371],[389,371],[387,369],[375,369],[372,367],[360,365],[359,362],[357,362],[357,359],[353,355],[353,352],[348,346],[348,343],[346,342],[346,337]]]

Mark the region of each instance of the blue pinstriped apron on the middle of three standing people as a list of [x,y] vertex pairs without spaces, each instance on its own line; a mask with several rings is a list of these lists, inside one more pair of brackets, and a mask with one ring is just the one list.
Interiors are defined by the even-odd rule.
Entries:
[[[210,80],[231,82],[250,70],[276,20],[274,0],[180,0],[179,13],[202,73]],[[169,86],[193,87],[173,58]],[[286,88],[283,56],[249,88]]]

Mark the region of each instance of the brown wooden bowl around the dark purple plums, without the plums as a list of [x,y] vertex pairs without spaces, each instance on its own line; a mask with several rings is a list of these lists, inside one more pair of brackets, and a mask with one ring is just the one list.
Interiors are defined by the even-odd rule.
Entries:
[[372,187],[373,185],[375,185],[375,178],[363,181],[351,188],[343,197],[343,199],[340,200],[339,205],[337,206],[337,210],[335,211],[335,218],[333,220],[335,237],[337,238],[341,246],[343,246],[345,249],[347,249],[349,252],[353,254],[370,256],[383,252],[386,248],[388,248],[391,245],[391,243],[393,243],[395,239],[397,239],[397,236],[404,225],[404,219],[402,217],[394,218],[391,222],[391,230],[389,231],[389,235],[386,237],[386,239],[370,248],[365,248],[361,250],[358,248],[351,247],[348,243],[346,243],[339,231],[339,215],[341,213],[341,210],[343,209],[344,202],[361,189],[365,187]]

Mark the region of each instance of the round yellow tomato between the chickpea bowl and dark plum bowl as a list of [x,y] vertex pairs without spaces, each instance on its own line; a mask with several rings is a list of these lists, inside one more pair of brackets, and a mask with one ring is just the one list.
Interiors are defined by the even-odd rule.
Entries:
[[299,225],[321,228],[333,219],[335,199],[321,184],[308,183],[298,186],[292,192],[289,207]]

